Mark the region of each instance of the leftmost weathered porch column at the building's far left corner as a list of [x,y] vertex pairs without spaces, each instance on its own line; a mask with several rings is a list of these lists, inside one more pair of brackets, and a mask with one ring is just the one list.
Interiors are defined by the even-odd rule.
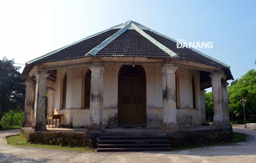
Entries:
[[33,125],[33,111],[35,102],[35,84],[33,80],[26,80],[26,97],[24,109],[23,128],[31,127]]

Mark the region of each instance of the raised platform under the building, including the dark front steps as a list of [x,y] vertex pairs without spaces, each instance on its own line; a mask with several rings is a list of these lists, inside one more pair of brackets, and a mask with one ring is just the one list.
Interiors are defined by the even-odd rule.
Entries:
[[157,128],[112,128],[104,132],[86,128],[47,128],[33,131],[21,128],[21,135],[34,144],[62,146],[88,146],[98,151],[171,150],[173,146],[192,143],[228,141],[232,128],[214,129],[210,126],[180,128],[179,132],[166,132]]

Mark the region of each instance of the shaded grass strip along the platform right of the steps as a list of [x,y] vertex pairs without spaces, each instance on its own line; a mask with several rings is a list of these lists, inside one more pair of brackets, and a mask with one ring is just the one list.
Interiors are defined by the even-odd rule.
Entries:
[[231,143],[245,142],[245,135],[232,133],[232,138],[228,142],[215,142],[215,143],[204,143],[204,144],[191,144],[186,146],[177,146],[173,147],[174,150],[184,150],[184,149],[194,149],[194,148],[202,148],[207,146],[215,146],[215,145],[226,145]]

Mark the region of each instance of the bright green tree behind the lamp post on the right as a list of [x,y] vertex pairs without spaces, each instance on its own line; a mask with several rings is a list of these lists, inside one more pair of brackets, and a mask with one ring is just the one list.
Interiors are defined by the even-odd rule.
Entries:
[[256,71],[249,70],[235,83],[230,85],[228,91],[230,117],[238,123],[243,121],[243,107],[240,99],[246,99],[245,119],[247,122],[256,122]]

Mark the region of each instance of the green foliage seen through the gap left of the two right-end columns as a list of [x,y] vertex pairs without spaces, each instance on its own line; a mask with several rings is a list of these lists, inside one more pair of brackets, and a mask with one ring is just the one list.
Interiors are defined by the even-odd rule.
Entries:
[[213,95],[212,92],[205,92],[205,113],[206,119],[209,118],[209,121],[213,121]]

